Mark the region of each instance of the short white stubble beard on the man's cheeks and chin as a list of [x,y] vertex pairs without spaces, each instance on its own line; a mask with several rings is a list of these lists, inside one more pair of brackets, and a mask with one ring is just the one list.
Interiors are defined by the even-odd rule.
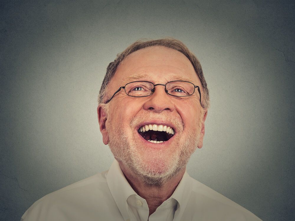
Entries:
[[[144,149],[136,143],[133,125],[136,125],[140,117],[132,118],[130,127],[124,129],[120,123],[109,124],[109,147],[114,154],[115,159],[130,169],[134,174],[139,176],[143,182],[148,185],[161,186],[178,172],[186,167],[191,154],[194,153],[200,142],[201,137],[201,118],[195,130],[187,131],[187,135],[178,136],[179,140],[174,140],[174,152],[170,148],[161,149]],[[108,119],[109,120],[109,119]],[[181,123],[175,121],[179,126]],[[179,133],[183,132],[179,130]],[[181,135],[181,134],[178,134]],[[176,148],[177,147],[177,148]],[[152,162],[147,162],[146,156],[153,156]],[[161,157],[162,156],[162,157]]]

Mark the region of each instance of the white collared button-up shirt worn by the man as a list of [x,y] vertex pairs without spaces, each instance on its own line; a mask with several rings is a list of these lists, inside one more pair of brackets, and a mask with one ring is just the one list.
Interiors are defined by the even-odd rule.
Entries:
[[22,220],[188,221],[260,220],[209,187],[183,175],[172,196],[150,215],[115,160],[109,171],[83,179],[36,201]]

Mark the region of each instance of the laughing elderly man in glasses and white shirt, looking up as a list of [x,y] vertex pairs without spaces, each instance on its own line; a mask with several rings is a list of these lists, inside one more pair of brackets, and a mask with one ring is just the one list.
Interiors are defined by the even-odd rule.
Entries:
[[209,107],[197,58],[175,39],[138,41],[107,68],[97,108],[110,169],[35,202],[23,220],[260,220],[189,177]]

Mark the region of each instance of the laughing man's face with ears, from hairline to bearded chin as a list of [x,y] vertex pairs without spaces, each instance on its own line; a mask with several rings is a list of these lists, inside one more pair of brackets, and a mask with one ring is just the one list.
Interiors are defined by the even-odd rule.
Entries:
[[[201,88],[185,55],[167,47],[148,47],[133,52],[119,65],[109,84],[109,95],[132,81],[166,84],[173,80],[187,80]],[[206,111],[202,111],[197,90],[180,98],[165,93],[163,85],[155,86],[155,92],[148,97],[130,97],[122,89],[110,101],[109,113],[100,107],[98,112],[104,143],[109,144],[120,164],[147,182],[177,174],[196,146],[202,147]],[[139,133],[145,125],[170,126],[174,135],[153,130]]]

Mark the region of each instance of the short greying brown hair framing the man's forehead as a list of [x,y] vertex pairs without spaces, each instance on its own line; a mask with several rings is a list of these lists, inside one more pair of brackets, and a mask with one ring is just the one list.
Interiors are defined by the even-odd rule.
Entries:
[[99,97],[98,102],[99,104],[103,104],[103,100],[105,99],[105,96],[107,94],[107,87],[109,85],[109,82],[111,81],[112,77],[116,73],[116,70],[120,63],[132,52],[135,52],[137,50],[140,50],[142,48],[146,47],[152,47],[152,46],[164,46],[168,48],[172,48],[174,50],[177,50],[181,52],[183,55],[185,55],[191,62],[191,64],[194,67],[194,70],[196,71],[196,74],[198,75],[201,85],[203,88],[202,91],[202,102],[201,106],[204,109],[209,108],[209,90],[207,88],[207,83],[203,75],[202,67],[199,62],[199,60],[196,58],[196,56],[183,44],[181,41],[173,39],[173,38],[163,38],[158,40],[144,40],[140,39],[133,44],[131,44],[129,47],[127,47],[122,53],[117,54],[116,59],[109,63],[107,69],[106,69],[106,75],[104,76],[104,80],[102,82],[100,91],[99,91]]

